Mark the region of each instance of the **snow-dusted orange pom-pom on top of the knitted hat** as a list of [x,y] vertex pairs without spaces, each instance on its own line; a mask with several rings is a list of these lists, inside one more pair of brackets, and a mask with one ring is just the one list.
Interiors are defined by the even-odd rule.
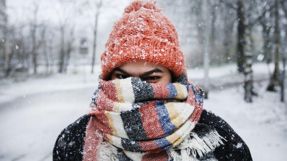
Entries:
[[124,13],[131,13],[132,11],[138,11],[141,7],[160,12],[162,9],[158,8],[156,1],[133,1],[129,6],[125,7]]

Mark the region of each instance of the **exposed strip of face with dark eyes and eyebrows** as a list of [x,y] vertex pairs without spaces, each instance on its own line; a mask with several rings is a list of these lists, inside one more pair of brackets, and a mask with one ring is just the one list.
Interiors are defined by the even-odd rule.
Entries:
[[165,66],[151,62],[127,62],[115,68],[111,73],[110,80],[124,79],[127,77],[139,77],[150,83],[171,83],[172,73]]

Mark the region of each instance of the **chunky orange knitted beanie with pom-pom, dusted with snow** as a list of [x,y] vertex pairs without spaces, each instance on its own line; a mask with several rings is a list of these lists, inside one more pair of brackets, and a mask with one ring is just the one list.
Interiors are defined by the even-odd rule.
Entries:
[[158,8],[156,1],[133,1],[113,30],[101,55],[101,76],[107,79],[114,68],[145,61],[160,64],[175,77],[185,71],[185,56],[176,28]]

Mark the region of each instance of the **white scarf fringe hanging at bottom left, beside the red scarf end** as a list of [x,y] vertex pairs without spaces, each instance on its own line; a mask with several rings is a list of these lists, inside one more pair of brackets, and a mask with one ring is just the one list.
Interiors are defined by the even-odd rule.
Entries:
[[117,161],[118,160],[118,149],[110,144],[109,142],[104,142],[102,135],[95,131],[95,134],[98,136],[99,145],[97,146],[96,150],[99,153],[99,161]]

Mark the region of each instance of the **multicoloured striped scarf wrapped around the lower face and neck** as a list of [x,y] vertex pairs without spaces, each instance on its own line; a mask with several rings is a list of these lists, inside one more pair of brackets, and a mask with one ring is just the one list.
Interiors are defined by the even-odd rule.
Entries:
[[167,160],[171,148],[192,138],[203,97],[184,73],[167,84],[99,78],[88,111],[94,117],[87,125],[83,160]]

